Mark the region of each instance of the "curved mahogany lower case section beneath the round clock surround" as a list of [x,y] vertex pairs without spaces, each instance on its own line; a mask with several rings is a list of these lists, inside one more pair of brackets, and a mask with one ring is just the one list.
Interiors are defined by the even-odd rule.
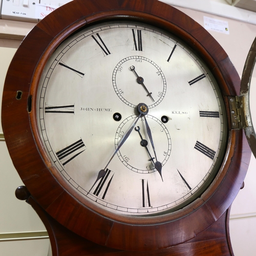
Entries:
[[[19,193],[26,187],[19,187]],[[26,191],[23,191],[26,194]],[[22,193],[23,193],[22,192]],[[24,198],[22,200],[25,200]],[[229,239],[229,212],[230,208],[208,229],[198,236],[175,246],[158,250],[127,251],[98,245],[73,233],[63,225],[60,225],[47,212],[42,209],[32,197],[27,202],[36,211],[45,224],[51,241],[53,256],[70,255],[108,255],[108,256],[180,256],[180,255],[207,255],[207,256],[230,256],[233,255]]]

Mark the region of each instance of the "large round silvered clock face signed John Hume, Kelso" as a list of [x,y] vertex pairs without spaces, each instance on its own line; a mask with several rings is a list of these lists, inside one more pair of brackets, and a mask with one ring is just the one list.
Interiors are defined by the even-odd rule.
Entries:
[[197,55],[157,28],[112,22],[74,34],[49,59],[36,100],[46,156],[71,194],[103,209],[174,211],[220,167],[218,85]]

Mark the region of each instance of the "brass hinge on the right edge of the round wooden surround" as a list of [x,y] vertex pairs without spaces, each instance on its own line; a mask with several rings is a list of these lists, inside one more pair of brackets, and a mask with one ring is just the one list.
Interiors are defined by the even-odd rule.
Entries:
[[232,129],[246,129],[252,126],[250,114],[248,112],[248,94],[240,96],[229,96],[229,110],[231,116]]

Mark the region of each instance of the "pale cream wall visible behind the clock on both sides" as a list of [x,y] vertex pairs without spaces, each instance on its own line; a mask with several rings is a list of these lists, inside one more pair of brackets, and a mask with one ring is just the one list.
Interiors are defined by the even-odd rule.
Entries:
[[[189,0],[190,1],[190,0]],[[221,0],[217,1],[221,2]],[[256,25],[238,20],[219,17],[190,9],[177,7],[194,18],[202,26],[203,16],[214,17],[228,22],[229,35],[209,31],[229,55],[239,75],[242,75],[244,62],[250,45],[256,36]],[[3,24],[3,20],[1,21]],[[1,37],[1,35],[0,35]],[[0,97],[5,75],[19,45],[18,40],[0,38]],[[255,72],[256,73],[256,72]],[[253,80],[256,83],[256,74]],[[255,87],[255,84],[254,84]],[[251,97],[255,97],[256,88],[252,89]],[[255,101],[255,100],[254,100]],[[253,103],[253,102],[252,102]],[[1,106],[0,106],[1,108]],[[252,105],[253,116],[256,118],[256,101]],[[254,118],[254,120],[256,120]],[[256,121],[254,121],[256,123]],[[2,133],[2,127],[0,127]],[[33,209],[24,201],[15,198],[14,191],[22,185],[9,157],[5,141],[0,141],[0,255],[2,256],[47,256],[49,239],[46,229]],[[245,187],[233,202],[230,218],[230,236],[234,255],[255,255],[256,237],[256,160],[252,156]],[[25,236],[26,240],[20,238]]]

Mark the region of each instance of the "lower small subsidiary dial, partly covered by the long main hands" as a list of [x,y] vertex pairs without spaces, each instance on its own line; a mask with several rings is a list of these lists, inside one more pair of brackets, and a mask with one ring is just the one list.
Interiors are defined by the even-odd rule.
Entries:
[[[118,126],[115,136],[115,147],[117,148],[120,138],[123,137],[125,131],[134,122],[137,115],[127,117]],[[154,143],[155,151],[158,153],[158,161],[162,166],[168,161],[172,147],[171,138],[165,125],[156,117],[146,115],[148,125],[154,137],[157,138]],[[118,151],[117,155],[121,162],[129,169],[136,173],[150,174],[156,172],[155,163],[156,157],[150,142],[150,138],[146,133],[145,117],[138,120],[134,131],[131,133],[129,140],[127,140]],[[164,168],[164,167],[163,167]]]

